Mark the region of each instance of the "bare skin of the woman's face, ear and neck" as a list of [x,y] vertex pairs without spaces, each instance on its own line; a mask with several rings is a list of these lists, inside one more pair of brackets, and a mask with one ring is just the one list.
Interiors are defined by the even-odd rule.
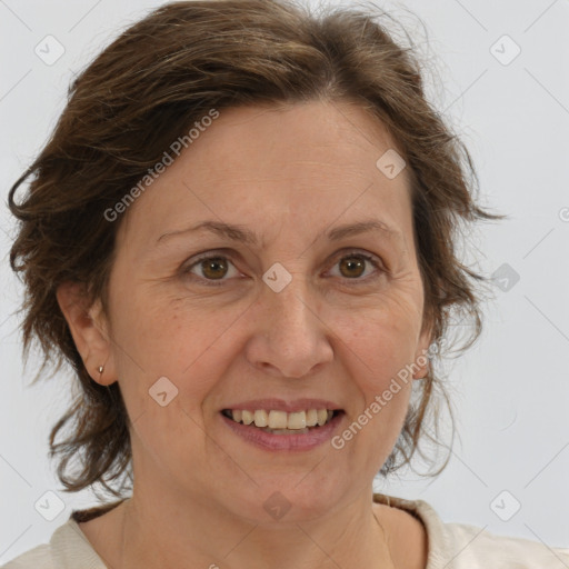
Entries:
[[[411,380],[340,450],[259,449],[220,416],[250,399],[320,398],[345,410],[340,433],[428,349],[407,171],[376,167],[393,148],[349,102],[222,110],[121,220],[108,315],[60,287],[87,369],[119,382],[132,421],[132,499],[80,525],[111,567],[426,567],[422,525],[372,503]],[[370,218],[398,237],[317,239]],[[209,219],[261,242],[202,231],[157,246]],[[183,273],[202,252],[224,256],[226,272]],[[340,262],[358,253],[379,268]],[[292,277],[280,292],[262,280],[274,262]],[[178,389],[166,407],[149,396],[163,376]],[[291,506],[279,520],[263,508],[276,491]]]

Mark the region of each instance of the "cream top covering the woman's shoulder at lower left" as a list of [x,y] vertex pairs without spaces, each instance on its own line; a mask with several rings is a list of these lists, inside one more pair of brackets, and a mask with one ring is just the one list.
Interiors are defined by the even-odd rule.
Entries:
[[0,569],[106,569],[72,518],[56,529],[49,543],[26,551]]

